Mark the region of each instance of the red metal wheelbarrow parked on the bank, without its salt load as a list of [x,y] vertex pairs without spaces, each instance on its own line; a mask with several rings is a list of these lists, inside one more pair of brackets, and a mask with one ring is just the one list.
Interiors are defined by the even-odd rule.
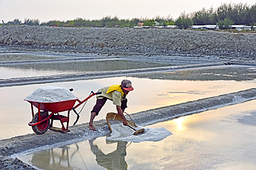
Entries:
[[[82,101],[79,100],[78,98],[73,100],[65,100],[65,101],[53,102],[53,103],[39,103],[35,101],[26,100],[31,104],[32,116],[33,116],[32,121],[28,123],[28,125],[32,126],[33,131],[35,131],[35,133],[39,135],[46,133],[48,129],[51,129],[54,131],[68,132],[69,131],[68,122],[69,122],[70,111],[73,110],[77,115],[77,119],[75,120],[75,123],[77,123],[80,116],[79,114],[77,114],[77,111],[75,111],[75,109],[96,94],[101,94],[101,92],[94,93],[91,91],[91,94]],[[76,101],[78,102],[77,105],[75,105]],[[34,114],[33,106],[37,107],[38,109],[37,114]],[[51,112],[50,115],[48,114],[49,111]],[[62,111],[68,111],[68,116],[60,115],[59,112],[62,112]],[[50,119],[51,119],[51,123],[50,123]],[[60,120],[60,123],[62,124],[62,129],[53,127],[53,120]],[[64,123],[66,123],[66,127],[64,127]],[[75,123],[73,125],[75,125]]]

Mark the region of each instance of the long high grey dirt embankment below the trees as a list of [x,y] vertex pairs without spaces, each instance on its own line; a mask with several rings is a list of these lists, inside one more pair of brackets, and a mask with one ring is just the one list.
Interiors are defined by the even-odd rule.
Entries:
[[189,54],[255,59],[256,34],[134,28],[0,27],[2,50],[100,54]]

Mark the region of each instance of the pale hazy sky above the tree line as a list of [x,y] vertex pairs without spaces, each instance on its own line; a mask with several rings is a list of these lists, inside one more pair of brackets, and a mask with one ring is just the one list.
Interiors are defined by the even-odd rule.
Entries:
[[[5,23],[19,19],[39,19],[40,23],[76,18],[102,19],[115,17],[134,19],[172,17],[177,19],[181,12],[191,13],[202,8],[217,8],[221,3],[241,3],[241,0],[0,0],[0,21]],[[255,5],[255,0],[243,1]]]

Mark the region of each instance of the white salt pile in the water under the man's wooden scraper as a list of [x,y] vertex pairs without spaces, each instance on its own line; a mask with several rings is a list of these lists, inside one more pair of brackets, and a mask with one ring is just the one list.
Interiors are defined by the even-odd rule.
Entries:
[[172,135],[170,131],[165,129],[164,127],[161,128],[145,128],[145,127],[136,127],[136,130],[138,129],[145,129],[143,134],[134,135],[134,130],[125,127],[122,124],[118,125],[111,125],[112,132],[109,137],[107,137],[108,140],[122,140],[126,142],[144,142],[144,141],[159,141],[163,140],[167,136]]

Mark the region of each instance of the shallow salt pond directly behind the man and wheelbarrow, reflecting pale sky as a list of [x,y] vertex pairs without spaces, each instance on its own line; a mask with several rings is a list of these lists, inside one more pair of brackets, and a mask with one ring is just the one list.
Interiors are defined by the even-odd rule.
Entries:
[[[0,94],[4,97],[0,98],[0,128],[4,129],[4,131],[1,131],[0,139],[34,133],[31,127],[28,126],[28,122],[32,120],[30,104],[23,99],[30,95],[35,89],[46,85],[65,87],[68,89],[73,88],[73,94],[82,100],[89,96],[91,90],[96,92],[100,87],[119,84],[124,78],[130,79],[134,86],[134,92],[129,93],[127,96],[129,102],[126,111],[128,114],[157,107],[185,103],[200,98],[238,92],[256,86],[256,81],[253,79],[253,76],[256,77],[254,67],[235,67],[234,70],[236,70],[236,72],[250,71],[250,74],[239,76],[241,77],[239,81],[235,81],[237,80],[237,76],[235,76],[236,72],[232,71],[232,67],[226,70],[218,68],[218,70],[221,69],[223,72],[222,74],[218,72],[219,76],[217,79],[209,79],[210,76],[201,76],[205,75],[203,72],[207,74],[214,72],[214,69],[203,69],[197,71],[181,71],[176,72],[176,74],[171,72],[158,72],[154,74],[154,76],[152,76],[152,74],[143,74],[141,76],[138,74],[137,77],[101,78],[89,81],[1,87]],[[196,72],[200,74],[196,74]],[[172,77],[169,75],[172,75]],[[176,79],[178,80],[175,80],[175,75],[177,75]],[[188,78],[193,75],[193,81],[188,80]],[[164,78],[161,78],[161,76]],[[226,78],[228,78],[227,81],[225,80]],[[93,105],[95,105],[95,97],[88,100],[80,114],[80,120],[77,124],[89,122],[90,111]],[[78,107],[77,112],[79,112],[81,108],[82,106]],[[116,112],[116,107],[112,105],[110,100],[107,101],[95,120],[105,119],[108,112]],[[63,114],[66,115],[66,112]],[[73,125],[75,118],[75,114],[71,112],[70,125]],[[60,127],[60,123],[56,122],[55,126]]]

